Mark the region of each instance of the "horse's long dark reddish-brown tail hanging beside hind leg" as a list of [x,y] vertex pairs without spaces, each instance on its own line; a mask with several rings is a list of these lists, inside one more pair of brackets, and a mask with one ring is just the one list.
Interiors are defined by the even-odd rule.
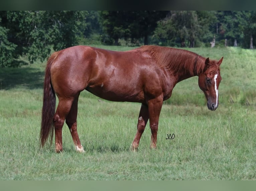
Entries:
[[56,97],[55,92],[51,86],[51,76],[50,69],[51,65],[58,55],[58,52],[54,52],[47,61],[45,69],[45,78],[43,84],[43,107],[42,107],[42,119],[41,119],[41,130],[40,130],[40,139],[41,146],[44,146],[44,143],[50,136],[50,143],[52,143],[53,137],[53,116],[55,113]]

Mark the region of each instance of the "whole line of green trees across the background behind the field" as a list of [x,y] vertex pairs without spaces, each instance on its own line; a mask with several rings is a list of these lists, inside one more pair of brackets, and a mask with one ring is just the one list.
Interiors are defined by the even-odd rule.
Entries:
[[254,48],[255,11],[0,11],[0,67],[78,44]]

